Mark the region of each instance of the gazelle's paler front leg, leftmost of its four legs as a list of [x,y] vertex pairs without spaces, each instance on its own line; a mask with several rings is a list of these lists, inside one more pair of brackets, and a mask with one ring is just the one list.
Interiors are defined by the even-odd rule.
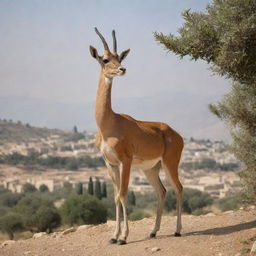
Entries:
[[115,205],[116,205],[116,228],[113,237],[109,240],[111,244],[117,243],[117,239],[121,233],[121,205],[119,199],[120,190],[120,171],[118,166],[107,164],[109,176],[112,179],[114,192],[115,192]]

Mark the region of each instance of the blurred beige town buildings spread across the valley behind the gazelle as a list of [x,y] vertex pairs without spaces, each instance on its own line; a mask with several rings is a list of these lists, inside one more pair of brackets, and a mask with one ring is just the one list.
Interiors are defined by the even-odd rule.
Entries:
[[[38,164],[8,164],[8,156],[31,156],[38,159],[100,160],[101,154],[95,147],[95,133],[35,128],[29,124],[7,120],[0,121],[0,185],[21,193],[25,183],[36,188],[42,184],[50,191],[62,187],[65,182],[72,186],[82,183],[87,189],[89,178],[111,183],[104,164],[95,166],[70,165],[54,168]],[[241,189],[238,172],[241,164],[223,141],[185,138],[180,164],[180,177],[185,188],[198,189],[213,198],[223,198]],[[74,168],[75,167],[75,168]],[[143,172],[132,170],[129,189],[146,193],[153,191]],[[160,177],[167,188],[171,188],[164,171]]]

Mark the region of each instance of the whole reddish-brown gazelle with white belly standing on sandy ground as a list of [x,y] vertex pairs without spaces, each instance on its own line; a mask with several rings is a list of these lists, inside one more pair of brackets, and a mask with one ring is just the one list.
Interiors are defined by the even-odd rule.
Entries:
[[[100,79],[96,98],[96,123],[98,133],[96,146],[102,152],[109,175],[113,181],[116,204],[116,227],[110,243],[126,243],[129,233],[126,212],[126,197],[132,167],[141,169],[158,196],[156,221],[150,237],[155,237],[160,229],[166,189],[159,171],[163,167],[176,193],[177,227],[175,236],[180,236],[182,185],[178,177],[178,165],[183,149],[182,137],[165,123],[138,121],[125,114],[117,114],[111,107],[111,89],[115,76],[122,76],[126,69],[121,62],[130,49],[117,54],[115,31],[112,32],[113,52],[100,32],[104,54],[90,46],[90,53],[100,64]],[[121,206],[124,224],[121,232]]]

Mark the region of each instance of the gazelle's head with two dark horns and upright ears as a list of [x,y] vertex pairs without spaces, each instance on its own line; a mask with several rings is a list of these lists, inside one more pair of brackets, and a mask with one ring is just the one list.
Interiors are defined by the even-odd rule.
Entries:
[[103,74],[105,77],[113,78],[115,76],[122,76],[125,74],[126,69],[121,65],[121,62],[128,55],[130,49],[123,51],[120,55],[117,54],[117,43],[115,30],[112,31],[113,37],[113,52],[109,50],[108,44],[102,34],[95,28],[95,32],[100,37],[103,46],[104,54],[103,56],[98,55],[98,51],[93,46],[90,46],[90,53],[93,58],[95,58],[101,65]]

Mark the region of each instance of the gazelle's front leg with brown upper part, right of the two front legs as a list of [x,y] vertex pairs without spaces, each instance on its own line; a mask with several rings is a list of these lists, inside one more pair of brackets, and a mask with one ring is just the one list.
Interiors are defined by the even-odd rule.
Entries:
[[122,228],[122,234],[118,240],[118,244],[126,244],[126,239],[129,234],[129,227],[128,227],[128,217],[126,211],[126,199],[128,194],[128,185],[130,179],[130,170],[131,170],[131,160],[123,161],[121,164],[121,180],[120,180],[120,190],[119,190],[119,199],[123,209],[123,216],[124,216],[124,225]]

